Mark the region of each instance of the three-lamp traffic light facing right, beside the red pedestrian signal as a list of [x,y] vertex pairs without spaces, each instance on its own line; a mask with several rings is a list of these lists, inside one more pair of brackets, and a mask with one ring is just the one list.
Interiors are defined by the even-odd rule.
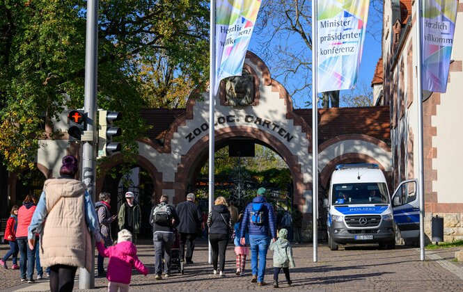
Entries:
[[112,142],[113,137],[120,136],[122,129],[112,127],[113,122],[122,120],[122,113],[116,111],[98,111],[98,157],[111,156],[113,152],[120,151],[122,145]]

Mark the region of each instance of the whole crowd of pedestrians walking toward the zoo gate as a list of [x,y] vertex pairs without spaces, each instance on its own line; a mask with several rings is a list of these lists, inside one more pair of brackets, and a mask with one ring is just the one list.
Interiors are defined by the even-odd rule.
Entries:
[[[4,239],[10,250],[0,260],[0,266],[8,268],[6,261],[13,257],[13,270],[20,270],[20,279],[33,283],[33,268],[37,264],[38,277],[42,266],[47,267],[51,291],[72,291],[78,267],[90,273],[94,250],[92,237],[97,243],[98,275],[109,280],[109,291],[128,291],[132,268],[143,275],[148,268],[136,256],[136,238],[141,226],[141,210],[134,201],[134,193],[125,193],[125,202],[118,215],[111,215],[111,195],[100,193],[93,204],[85,184],[76,179],[78,161],[65,156],[60,177],[47,179],[40,200],[27,195],[23,205],[13,206]],[[225,276],[226,248],[233,238],[236,254],[236,275],[244,276],[246,257],[251,252],[251,282],[264,286],[267,250],[274,251],[274,287],[278,287],[278,273],[283,269],[291,284],[290,267],[295,266],[288,241],[288,230],[280,229],[277,237],[274,209],[265,199],[265,188],[259,188],[256,197],[242,213],[233,205],[228,206],[224,197],[217,197],[207,216],[209,241],[212,246],[212,273]],[[84,206],[84,208],[82,208]],[[292,222],[301,219],[294,207]],[[299,212],[299,213],[297,213]],[[117,243],[113,243],[111,223],[118,219]],[[47,221],[45,224],[45,220]],[[149,218],[152,225],[152,241],[155,248],[155,279],[171,275],[172,246],[176,234],[180,236],[180,261],[193,263],[198,229],[205,229],[203,213],[195,204],[195,195],[187,194],[185,202],[175,208],[168,196],[161,195],[159,204],[152,206]],[[297,226],[295,235],[300,241]],[[40,248],[38,248],[40,246]],[[20,254],[19,265],[17,254]],[[104,257],[109,257],[104,270]]]

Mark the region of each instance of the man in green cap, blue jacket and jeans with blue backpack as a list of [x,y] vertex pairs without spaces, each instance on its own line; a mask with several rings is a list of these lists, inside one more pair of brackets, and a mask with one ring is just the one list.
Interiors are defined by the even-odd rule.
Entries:
[[[249,228],[249,243],[251,245],[251,283],[264,286],[265,265],[267,263],[267,250],[270,240],[276,241],[276,228],[274,209],[265,200],[265,188],[257,190],[257,196],[246,206],[243,213],[240,234],[246,234]],[[241,238],[241,244],[246,240]]]

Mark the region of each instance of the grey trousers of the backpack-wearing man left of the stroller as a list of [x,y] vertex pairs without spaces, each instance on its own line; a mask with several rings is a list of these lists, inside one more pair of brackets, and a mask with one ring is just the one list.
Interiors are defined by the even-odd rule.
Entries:
[[171,251],[174,234],[172,232],[155,232],[152,242],[155,245],[155,273],[162,274],[162,256],[164,254],[164,273],[171,273]]

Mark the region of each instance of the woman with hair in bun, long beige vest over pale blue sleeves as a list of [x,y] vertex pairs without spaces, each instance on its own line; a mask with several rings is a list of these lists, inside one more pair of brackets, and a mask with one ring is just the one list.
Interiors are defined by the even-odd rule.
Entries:
[[[93,269],[91,233],[102,241],[97,215],[85,184],[75,179],[78,161],[65,156],[61,177],[47,179],[29,225],[29,246],[40,233],[40,263],[50,268],[50,290],[72,291],[77,268]],[[47,221],[45,222],[45,218]]]

